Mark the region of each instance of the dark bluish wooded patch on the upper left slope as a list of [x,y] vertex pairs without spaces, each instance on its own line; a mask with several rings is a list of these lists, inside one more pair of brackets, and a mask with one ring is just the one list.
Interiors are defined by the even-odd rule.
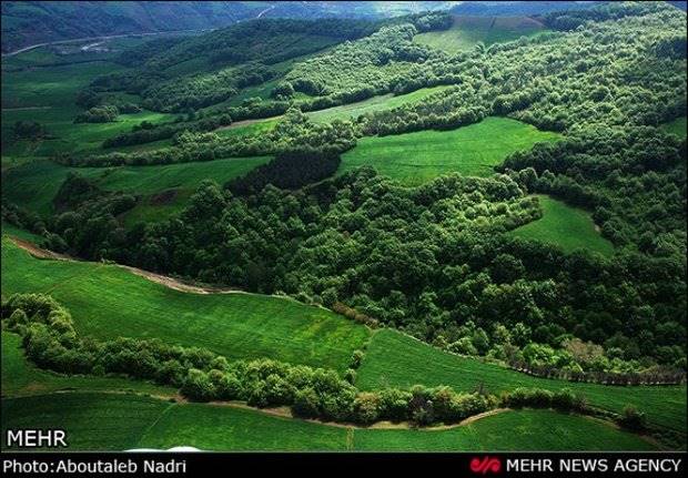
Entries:
[[[437,20],[425,23],[429,27]],[[136,65],[134,70],[95,79],[83,99],[127,91],[140,94],[142,104],[155,111],[204,108],[282,75],[282,68],[272,67],[275,63],[367,35],[376,28],[362,20],[265,19],[184,40],[153,40],[133,49],[131,58],[122,54],[120,61]]]

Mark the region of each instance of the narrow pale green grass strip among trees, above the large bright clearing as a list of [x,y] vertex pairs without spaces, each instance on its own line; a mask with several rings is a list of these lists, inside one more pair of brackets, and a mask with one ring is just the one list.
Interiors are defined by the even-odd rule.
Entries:
[[398,96],[389,94],[383,94],[380,96],[368,98],[364,101],[356,103],[343,104],[341,106],[327,108],[325,110],[311,111],[306,115],[316,123],[330,123],[334,120],[350,120],[352,118],[361,116],[365,113],[371,113],[381,110],[391,110],[394,108],[403,106],[405,104],[417,103],[422,99],[429,94],[436,93],[442,90],[446,90],[449,87],[433,87],[422,88],[412,93],[401,94]]

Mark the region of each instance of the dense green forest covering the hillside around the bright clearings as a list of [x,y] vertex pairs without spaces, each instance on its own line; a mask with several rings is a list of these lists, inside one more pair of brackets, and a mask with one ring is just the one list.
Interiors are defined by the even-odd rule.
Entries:
[[[24,221],[59,252],[351,307],[461,354],[573,372],[685,369],[686,141],[656,128],[686,113],[685,50],[666,47],[676,38],[658,28],[679,19],[655,3],[567,16],[547,21],[559,30],[574,29],[571,19],[587,27],[454,57],[413,44],[412,23],[382,27],[300,63],[282,80],[281,91],[286,84],[292,93],[320,98],[356,94],[348,91],[354,84],[365,84],[366,96],[456,83],[354,122],[313,123],[296,103],[269,134],[203,132],[231,123],[210,115],[132,133],[158,139],[155,131],[179,131],[166,149],[55,157],[113,166],[275,155],[245,177],[204,183],[179,218],[123,228],[117,216],[135,199],[99,191],[78,173],[60,189],[53,201],[59,213],[48,223],[21,218],[10,206],[6,216]],[[426,28],[443,28],[437,18]],[[609,21],[618,18],[624,21]],[[627,34],[640,23],[648,34]],[[274,28],[293,31],[294,24]],[[231,44],[253,28],[246,23],[229,40],[222,32],[178,43],[146,64],[164,69],[195,48],[219,39]],[[344,22],[332,30],[321,22],[317,29],[355,38],[370,26]],[[338,64],[351,71],[333,74]],[[640,70],[624,71],[629,65]],[[581,92],[590,93],[584,99]],[[413,189],[372,170],[327,179],[338,155],[363,135],[456,128],[504,114],[567,136],[512,154],[490,179],[449,175]],[[135,142],[115,139],[109,146]],[[505,234],[542,216],[532,193],[593,211],[617,254],[566,255]]]

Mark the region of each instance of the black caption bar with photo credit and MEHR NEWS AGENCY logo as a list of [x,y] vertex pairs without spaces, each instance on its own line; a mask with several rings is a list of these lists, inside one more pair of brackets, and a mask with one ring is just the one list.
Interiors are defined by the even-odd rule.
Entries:
[[[684,476],[686,452],[2,452],[2,476],[230,476],[423,470],[452,477]],[[158,464],[158,470],[151,468]],[[565,466],[568,464],[568,468]],[[118,468],[119,467],[119,468]],[[115,471],[112,471],[115,470]]]

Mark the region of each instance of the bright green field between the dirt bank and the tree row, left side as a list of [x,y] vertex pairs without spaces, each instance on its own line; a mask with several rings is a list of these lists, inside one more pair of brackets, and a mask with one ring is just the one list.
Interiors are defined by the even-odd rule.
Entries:
[[113,265],[37,260],[3,237],[2,293],[18,292],[50,293],[84,336],[155,337],[229,359],[267,357],[344,372],[370,336],[352,321],[293,299],[179,292]]

